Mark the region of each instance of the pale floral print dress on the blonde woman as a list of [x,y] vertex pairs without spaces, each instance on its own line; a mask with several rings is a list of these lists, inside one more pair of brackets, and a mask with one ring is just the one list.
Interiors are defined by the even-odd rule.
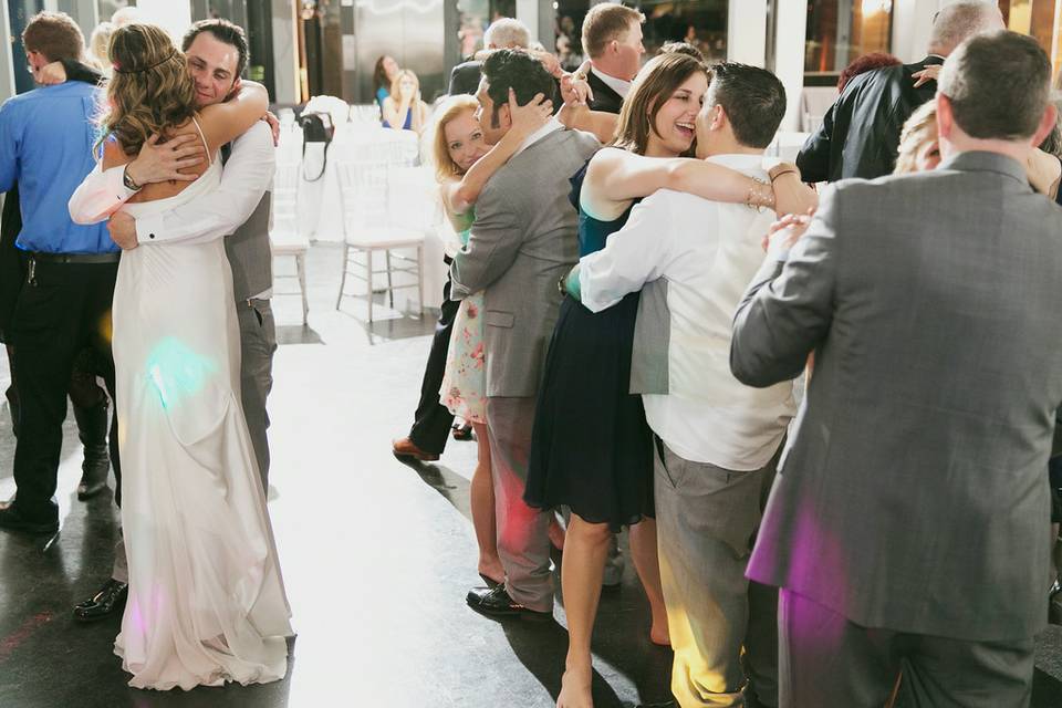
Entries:
[[[468,231],[461,233],[468,243]],[[439,399],[468,423],[487,423],[487,362],[483,354],[483,293],[461,301],[454,321]]]

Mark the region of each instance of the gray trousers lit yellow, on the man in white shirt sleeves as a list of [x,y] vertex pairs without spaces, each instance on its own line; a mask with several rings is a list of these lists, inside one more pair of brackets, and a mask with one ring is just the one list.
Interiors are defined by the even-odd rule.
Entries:
[[762,469],[738,472],[657,447],[660,581],[671,693],[683,708],[743,706],[746,675],[763,706],[777,705],[778,592],[745,577],[777,464],[775,454]]

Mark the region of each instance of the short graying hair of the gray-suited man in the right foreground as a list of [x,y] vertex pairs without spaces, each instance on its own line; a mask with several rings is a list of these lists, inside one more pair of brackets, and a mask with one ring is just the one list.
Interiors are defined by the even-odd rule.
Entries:
[[1031,37],[1001,30],[959,44],[944,63],[937,86],[951,102],[955,122],[970,137],[1031,137],[1048,107],[1051,62]]

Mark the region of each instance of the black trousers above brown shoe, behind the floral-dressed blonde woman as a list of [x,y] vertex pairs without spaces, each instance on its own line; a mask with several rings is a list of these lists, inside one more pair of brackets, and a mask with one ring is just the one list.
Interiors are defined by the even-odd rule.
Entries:
[[[450,259],[444,259],[450,264]],[[446,373],[446,354],[450,348],[450,333],[454,331],[454,320],[461,303],[450,300],[450,278],[447,275],[442,287],[442,304],[439,310],[439,321],[435,324],[435,336],[431,339],[431,351],[428,353],[428,363],[424,367],[424,379],[420,383],[420,403],[414,415],[413,427],[409,429],[409,439],[425,452],[440,455],[446,447],[450,426],[454,424],[454,414],[439,403],[439,387],[442,385],[442,375]]]

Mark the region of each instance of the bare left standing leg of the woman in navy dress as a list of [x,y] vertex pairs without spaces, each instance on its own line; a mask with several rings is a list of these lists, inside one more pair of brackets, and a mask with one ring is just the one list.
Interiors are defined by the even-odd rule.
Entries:
[[561,590],[568,615],[568,659],[556,708],[590,708],[593,676],[590,638],[601,600],[601,579],[612,532],[606,523],[589,523],[572,512],[564,537]]

